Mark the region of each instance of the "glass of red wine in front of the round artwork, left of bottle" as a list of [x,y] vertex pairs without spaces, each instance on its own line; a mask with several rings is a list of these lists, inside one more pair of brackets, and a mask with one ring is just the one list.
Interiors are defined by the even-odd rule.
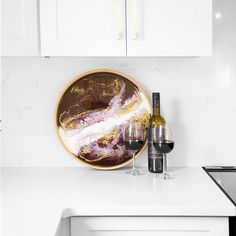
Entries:
[[147,129],[144,125],[140,124],[137,120],[131,120],[124,127],[123,142],[126,149],[132,152],[133,166],[127,174],[138,176],[144,174],[144,171],[135,167],[135,154],[145,144],[147,138]]

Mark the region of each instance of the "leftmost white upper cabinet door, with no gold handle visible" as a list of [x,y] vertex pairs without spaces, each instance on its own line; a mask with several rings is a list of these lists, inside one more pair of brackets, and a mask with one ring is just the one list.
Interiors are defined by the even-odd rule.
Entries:
[[37,0],[2,0],[1,5],[1,56],[38,56]]

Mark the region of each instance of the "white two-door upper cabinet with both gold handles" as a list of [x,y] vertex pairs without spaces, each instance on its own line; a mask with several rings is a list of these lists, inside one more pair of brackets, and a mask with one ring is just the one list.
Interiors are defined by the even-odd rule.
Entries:
[[40,0],[44,56],[210,56],[212,0]]

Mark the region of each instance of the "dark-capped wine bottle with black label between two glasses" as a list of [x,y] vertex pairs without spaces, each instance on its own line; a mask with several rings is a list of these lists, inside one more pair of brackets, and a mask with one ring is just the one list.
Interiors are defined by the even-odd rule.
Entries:
[[153,132],[158,126],[165,124],[165,119],[161,116],[160,93],[152,94],[153,114],[150,118],[148,129],[148,170],[152,173],[163,172],[163,156],[157,152],[153,144]]

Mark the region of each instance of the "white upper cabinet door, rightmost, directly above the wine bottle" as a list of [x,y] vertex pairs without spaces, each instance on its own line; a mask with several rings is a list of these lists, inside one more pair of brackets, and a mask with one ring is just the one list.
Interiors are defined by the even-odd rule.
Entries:
[[211,54],[211,0],[127,0],[128,56]]

